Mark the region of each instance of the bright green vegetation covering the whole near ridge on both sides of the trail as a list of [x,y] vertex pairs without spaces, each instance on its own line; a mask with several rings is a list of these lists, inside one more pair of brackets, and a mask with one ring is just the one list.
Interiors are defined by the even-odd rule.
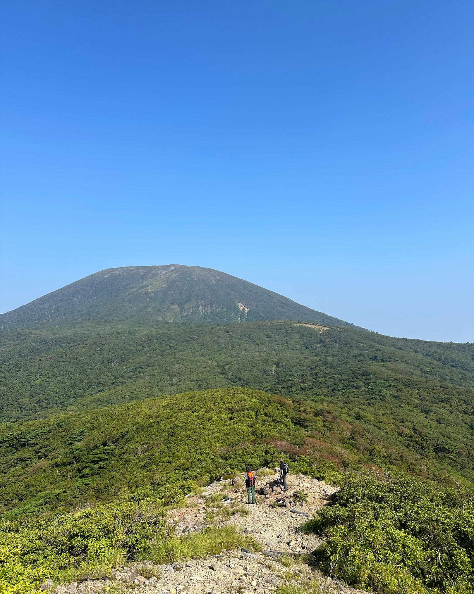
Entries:
[[[179,505],[196,482],[272,467],[280,456],[292,473],[341,487],[300,527],[325,537],[313,566],[377,594],[473,591],[472,485],[327,406],[246,388],[175,394],[3,426],[0,456],[0,586],[12,594],[29,594],[46,577],[54,587],[104,579],[133,560],[179,562],[255,544],[230,527],[175,538],[164,506]],[[214,493],[205,504],[211,523],[231,513],[216,501],[224,493]]]

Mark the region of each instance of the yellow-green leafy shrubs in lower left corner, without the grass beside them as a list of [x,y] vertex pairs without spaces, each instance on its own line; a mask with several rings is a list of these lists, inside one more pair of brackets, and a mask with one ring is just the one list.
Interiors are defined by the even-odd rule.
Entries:
[[[62,516],[0,522],[0,592],[30,592],[47,577],[62,581],[96,565],[142,554],[163,541],[164,499],[178,503],[183,492],[91,505]],[[71,570],[72,573],[71,573]]]

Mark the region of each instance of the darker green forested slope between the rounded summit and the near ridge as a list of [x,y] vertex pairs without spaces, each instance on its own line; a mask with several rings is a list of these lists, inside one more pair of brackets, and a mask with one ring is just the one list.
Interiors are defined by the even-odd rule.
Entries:
[[322,328],[262,321],[71,334],[3,332],[2,418],[208,387],[255,387],[290,397],[334,397],[375,389],[380,381],[451,387],[459,394],[474,388],[474,345]]

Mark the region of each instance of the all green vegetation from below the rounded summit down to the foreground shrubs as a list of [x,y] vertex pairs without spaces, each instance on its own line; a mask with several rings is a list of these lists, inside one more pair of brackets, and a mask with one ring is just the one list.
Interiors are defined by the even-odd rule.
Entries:
[[[473,357],[293,321],[2,332],[0,592],[239,546],[214,528],[176,539],[164,510],[283,457],[341,486],[306,525],[328,538],[326,574],[472,593]],[[209,501],[208,519],[243,510]]]

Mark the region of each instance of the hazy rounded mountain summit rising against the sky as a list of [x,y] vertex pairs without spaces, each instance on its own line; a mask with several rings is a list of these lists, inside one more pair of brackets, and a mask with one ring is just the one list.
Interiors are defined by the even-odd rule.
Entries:
[[300,320],[351,326],[235,276],[199,266],[107,268],[0,315],[0,328]]

